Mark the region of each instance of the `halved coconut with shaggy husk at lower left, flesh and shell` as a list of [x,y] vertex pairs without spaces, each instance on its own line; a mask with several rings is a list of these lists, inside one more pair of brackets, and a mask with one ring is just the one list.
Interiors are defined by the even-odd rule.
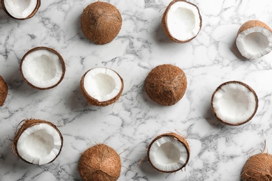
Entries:
[[59,156],[63,145],[61,132],[46,120],[24,120],[15,133],[13,152],[29,164],[48,164]]

